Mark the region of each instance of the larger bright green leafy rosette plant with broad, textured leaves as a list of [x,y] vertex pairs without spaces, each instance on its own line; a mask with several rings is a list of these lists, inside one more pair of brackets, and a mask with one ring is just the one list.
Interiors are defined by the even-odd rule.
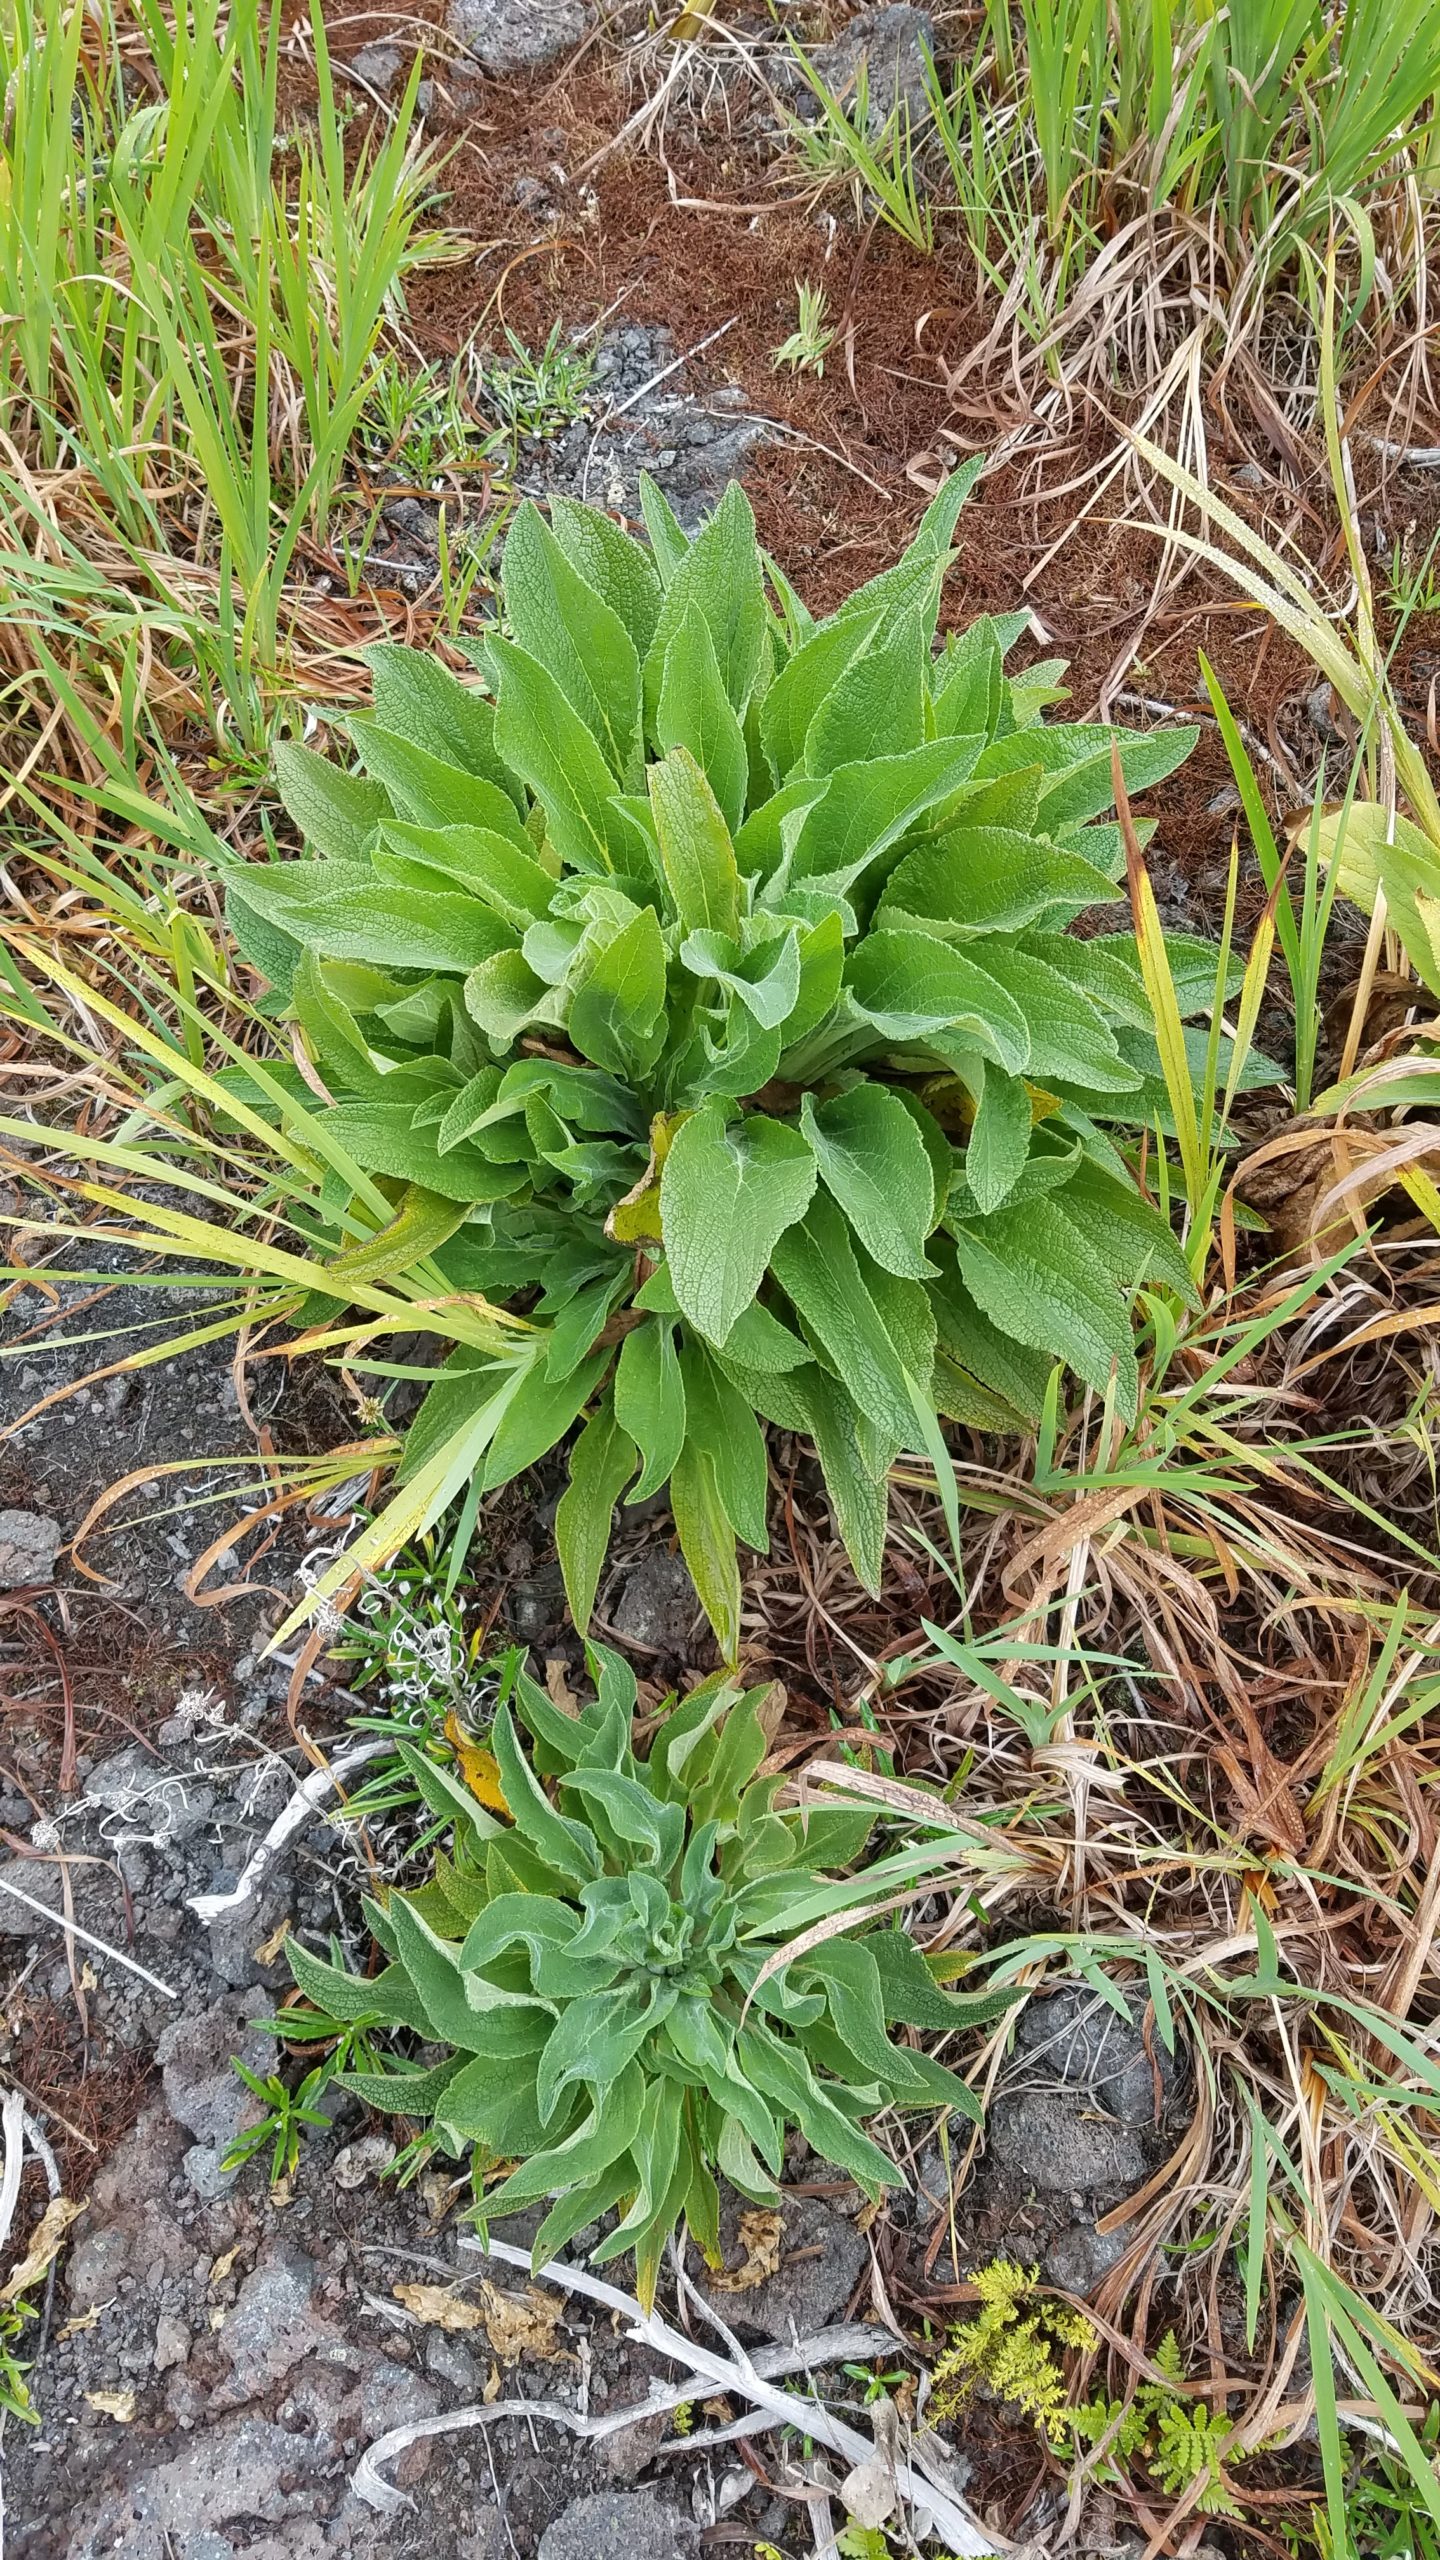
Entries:
[[[1104,1134],[1166,1119],[1135,937],[1068,932],[1117,896],[1112,732],[1040,719],[1053,668],[1004,676],[1020,614],[935,650],[971,479],[822,622],[738,486],[694,540],[648,492],[648,550],[523,507],[474,681],[374,650],[361,771],[279,750],[307,860],[231,868],[300,1044],[251,1106],[325,1096],[336,1242],[377,1183],[395,1211],[333,1257],[320,1339],[397,1270],[433,1331],[464,1311],[405,1533],[579,1423],[582,1628],[615,1503],[669,1485],[733,1656],[766,1423],[815,1444],[874,1590],[902,1449],[1035,1418],[1056,1359],[1130,1416],[1135,1288],[1194,1300]],[[1127,786],[1191,735],[1120,735]],[[1168,957],[1209,1004],[1209,952]]]

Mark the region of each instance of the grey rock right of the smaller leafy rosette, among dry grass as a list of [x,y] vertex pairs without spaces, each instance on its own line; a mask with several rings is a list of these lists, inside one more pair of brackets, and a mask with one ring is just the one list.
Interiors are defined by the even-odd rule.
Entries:
[[1035,2189],[1138,2186],[1176,2079],[1166,2051],[1150,2061],[1140,2028],[1079,1987],[1030,2002],[1015,2040],[1020,2084],[989,2109],[989,2158]]

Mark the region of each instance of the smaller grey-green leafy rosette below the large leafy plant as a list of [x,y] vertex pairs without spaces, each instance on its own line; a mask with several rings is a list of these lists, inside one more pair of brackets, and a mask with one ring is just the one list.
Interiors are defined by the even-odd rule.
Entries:
[[[1007,2007],[943,1992],[902,1928],[848,1915],[953,1856],[912,1841],[861,1874],[869,1807],[776,1805],[761,1777],[779,1690],[707,1682],[630,1741],[635,1679],[592,1651],[597,1697],[566,1715],[525,1674],[495,1715],[507,1820],[410,1743],[415,1784],[454,1828],[420,1892],[369,1905],[389,1958],[356,1976],[287,1940],[295,1981],[331,2017],[395,2028],[446,2056],[351,2071],[372,2107],[428,2122],[474,2156],[484,2217],[553,2199],[536,2266],[605,2214],[594,2260],[635,2253],[653,2299],[684,2220],[720,2263],[723,2173],[774,2204],[792,2130],[869,2196],[897,2184],[863,2132],[881,2107],[956,2107],[963,2079],[897,2043]],[[520,1738],[525,1731],[528,1748]]]

